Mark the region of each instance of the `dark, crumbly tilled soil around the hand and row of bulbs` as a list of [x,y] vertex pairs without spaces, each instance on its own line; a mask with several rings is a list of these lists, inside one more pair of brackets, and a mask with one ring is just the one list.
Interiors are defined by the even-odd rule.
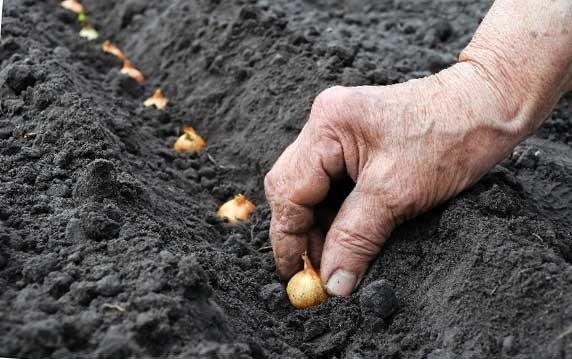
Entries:
[[[490,5],[371,3],[85,0],[140,86],[56,0],[4,1],[0,356],[572,358],[570,96],[399,227],[351,298],[284,298],[262,179],[312,99],[439,71]],[[167,109],[144,108],[159,86]],[[184,125],[207,150],[173,152]],[[239,192],[251,220],[218,220]]]

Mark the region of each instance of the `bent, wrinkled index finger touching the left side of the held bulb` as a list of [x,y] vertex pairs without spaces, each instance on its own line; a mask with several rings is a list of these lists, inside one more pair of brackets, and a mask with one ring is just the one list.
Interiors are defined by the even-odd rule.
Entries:
[[266,176],[272,210],[270,240],[281,278],[288,279],[302,268],[301,257],[314,228],[313,206],[327,195],[330,178],[344,168],[339,143],[309,126]]

